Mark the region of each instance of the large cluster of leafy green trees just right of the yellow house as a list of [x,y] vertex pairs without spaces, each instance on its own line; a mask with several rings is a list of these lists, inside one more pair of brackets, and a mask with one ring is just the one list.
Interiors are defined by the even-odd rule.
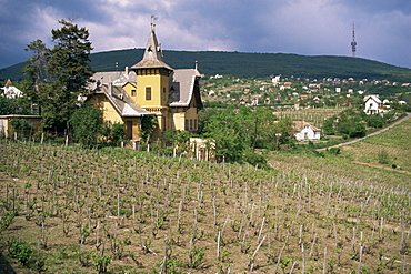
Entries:
[[[290,119],[278,121],[265,108],[254,110],[230,106],[223,111],[208,111],[200,115],[202,134],[215,142],[215,155],[227,161],[244,161],[264,165],[262,155],[247,152],[254,149],[275,150],[278,144],[292,140]],[[277,135],[280,134],[280,135]]]

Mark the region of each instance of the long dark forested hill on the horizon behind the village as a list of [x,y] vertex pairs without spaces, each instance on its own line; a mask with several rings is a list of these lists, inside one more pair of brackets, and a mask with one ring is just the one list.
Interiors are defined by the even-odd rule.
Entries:
[[[123,70],[141,60],[143,49],[128,49],[92,53],[96,72]],[[194,68],[206,75],[223,74],[239,78],[264,78],[272,74],[295,78],[388,79],[409,82],[411,69],[351,57],[298,55],[284,53],[244,53],[223,51],[164,51],[164,61],[173,69]],[[0,70],[0,79],[23,79],[21,62]],[[117,65],[116,65],[117,64]]]

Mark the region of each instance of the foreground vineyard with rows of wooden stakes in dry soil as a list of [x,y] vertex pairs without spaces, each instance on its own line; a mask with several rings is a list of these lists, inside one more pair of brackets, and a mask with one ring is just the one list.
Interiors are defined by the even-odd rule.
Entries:
[[3,139],[0,151],[0,266],[17,273],[411,271],[405,174]]

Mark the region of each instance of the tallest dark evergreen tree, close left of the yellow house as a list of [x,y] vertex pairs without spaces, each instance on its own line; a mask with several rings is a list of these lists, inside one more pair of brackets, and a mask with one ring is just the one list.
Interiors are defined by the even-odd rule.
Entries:
[[92,75],[89,54],[92,50],[89,31],[72,21],[60,20],[52,30],[54,48],[48,51],[47,70],[52,84],[41,92],[44,128],[63,129],[76,110],[78,98],[87,95]]

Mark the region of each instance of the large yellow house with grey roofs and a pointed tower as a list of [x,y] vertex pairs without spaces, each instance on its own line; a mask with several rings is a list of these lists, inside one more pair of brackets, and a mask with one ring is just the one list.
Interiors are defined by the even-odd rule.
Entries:
[[127,138],[139,140],[141,120],[156,115],[154,138],[166,130],[197,132],[202,109],[196,69],[172,69],[163,61],[154,24],[142,60],[126,71],[98,72],[88,101],[103,111],[104,121],[126,124]]

